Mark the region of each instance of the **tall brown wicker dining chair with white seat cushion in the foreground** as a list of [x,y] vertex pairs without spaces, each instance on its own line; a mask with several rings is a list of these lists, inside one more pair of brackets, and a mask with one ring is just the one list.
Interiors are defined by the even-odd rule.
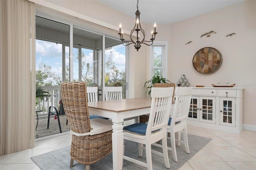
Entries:
[[90,164],[112,152],[112,122],[89,119],[85,82],[62,82],[60,91],[72,133],[70,167],[75,160],[85,164],[86,170],[89,170]]

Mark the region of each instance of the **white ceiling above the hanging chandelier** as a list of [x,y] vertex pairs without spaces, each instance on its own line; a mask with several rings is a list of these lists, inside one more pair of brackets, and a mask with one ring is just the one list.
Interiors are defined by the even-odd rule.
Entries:
[[[98,0],[135,18],[137,0]],[[244,0],[139,0],[140,20],[148,24],[172,24]]]

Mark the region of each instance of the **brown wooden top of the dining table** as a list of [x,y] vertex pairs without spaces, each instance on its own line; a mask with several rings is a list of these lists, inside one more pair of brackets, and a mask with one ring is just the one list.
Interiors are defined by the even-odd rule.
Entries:
[[151,99],[132,98],[112,101],[88,102],[89,108],[100,109],[111,112],[125,112],[151,107]]

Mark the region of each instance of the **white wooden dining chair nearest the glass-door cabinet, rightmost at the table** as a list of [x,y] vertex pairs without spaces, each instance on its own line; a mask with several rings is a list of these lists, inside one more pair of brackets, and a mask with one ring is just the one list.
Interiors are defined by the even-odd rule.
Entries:
[[[175,105],[172,111],[172,116],[168,121],[167,132],[170,133],[168,139],[171,140],[171,147],[168,150],[172,151],[173,160],[178,161],[176,153],[176,142],[185,145],[186,153],[190,153],[188,147],[188,134],[187,134],[187,119],[190,109],[191,95],[193,87],[176,87],[175,88]],[[180,140],[180,132],[183,130],[183,141]],[[175,139],[175,133],[178,132],[178,138]],[[154,143],[155,146],[160,144]]]

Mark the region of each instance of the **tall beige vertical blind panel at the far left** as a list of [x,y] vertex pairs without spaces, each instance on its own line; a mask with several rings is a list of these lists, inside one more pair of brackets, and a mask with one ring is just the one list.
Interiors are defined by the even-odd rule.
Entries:
[[1,0],[0,156],[35,143],[35,6]]

